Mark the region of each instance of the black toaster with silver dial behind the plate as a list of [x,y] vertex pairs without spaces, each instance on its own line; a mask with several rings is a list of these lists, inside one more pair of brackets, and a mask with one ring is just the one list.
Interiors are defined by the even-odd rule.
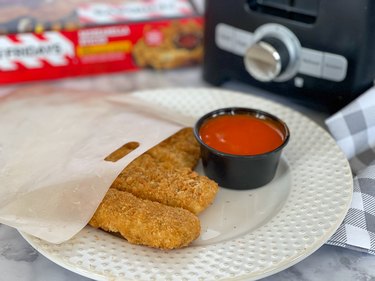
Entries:
[[373,85],[374,0],[206,0],[203,77],[333,112]]

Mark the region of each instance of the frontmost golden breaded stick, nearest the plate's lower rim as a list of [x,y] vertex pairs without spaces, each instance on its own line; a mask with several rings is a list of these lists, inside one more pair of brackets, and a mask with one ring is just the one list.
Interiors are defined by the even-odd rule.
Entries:
[[116,189],[108,190],[89,224],[119,233],[130,243],[160,249],[187,246],[200,234],[199,219],[191,212]]

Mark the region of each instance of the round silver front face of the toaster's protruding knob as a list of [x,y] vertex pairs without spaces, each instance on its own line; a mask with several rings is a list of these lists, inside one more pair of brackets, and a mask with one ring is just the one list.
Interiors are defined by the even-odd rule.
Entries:
[[244,63],[250,75],[262,82],[274,80],[282,69],[279,52],[274,46],[264,41],[255,43],[247,50]]

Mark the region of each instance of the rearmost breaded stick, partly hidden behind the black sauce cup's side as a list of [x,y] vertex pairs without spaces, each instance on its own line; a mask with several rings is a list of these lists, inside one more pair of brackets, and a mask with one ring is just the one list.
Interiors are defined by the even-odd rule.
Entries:
[[192,128],[183,128],[146,152],[167,168],[194,169],[200,157]]

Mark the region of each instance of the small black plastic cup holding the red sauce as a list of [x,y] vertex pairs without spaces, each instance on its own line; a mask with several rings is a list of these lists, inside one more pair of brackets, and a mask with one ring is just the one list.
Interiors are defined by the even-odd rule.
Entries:
[[[284,142],[276,149],[257,155],[234,155],[220,152],[205,144],[199,135],[201,126],[219,115],[247,114],[259,119],[272,120],[284,134]],[[194,135],[201,147],[201,159],[206,176],[221,187],[230,189],[252,189],[269,183],[275,176],[282,149],[289,141],[289,129],[278,117],[251,108],[228,107],[209,112],[198,119]],[[254,136],[257,137],[257,136]]]

